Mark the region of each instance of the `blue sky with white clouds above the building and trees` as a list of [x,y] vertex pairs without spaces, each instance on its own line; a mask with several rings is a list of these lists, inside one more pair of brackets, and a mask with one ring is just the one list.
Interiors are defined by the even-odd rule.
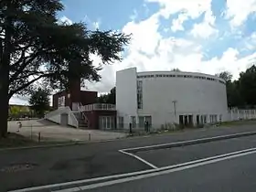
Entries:
[[[245,4],[246,2],[246,4]],[[109,92],[115,72],[181,69],[208,74],[228,70],[233,79],[256,64],[256,0],[62,0],[59,20],[91,30],[132,34],[123,61],[104,65],[100,82],[84,90]],[[94,65],[101,64],[91,55]],[[12,98],[10,103],[27,103]]]

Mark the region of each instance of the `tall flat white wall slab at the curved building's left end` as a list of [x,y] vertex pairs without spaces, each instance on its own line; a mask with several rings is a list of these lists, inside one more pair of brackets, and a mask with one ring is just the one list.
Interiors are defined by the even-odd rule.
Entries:
[[117,116],[123,116],[125,128],[128,128],[131,116],[137,116],[136,77],[136,68],[123,69],[116,73],[116,110]]

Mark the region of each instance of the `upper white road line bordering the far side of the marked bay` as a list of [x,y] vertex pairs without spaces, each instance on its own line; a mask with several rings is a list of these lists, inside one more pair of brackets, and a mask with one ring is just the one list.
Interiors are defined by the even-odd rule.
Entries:
[[[186,144],[186,143],[193,143],[193,142],[203,142],[209,139],[212,140],[216,140],[216,139],[220,139],[220,138],[226,138],[226,137],[234,137],[234,139],[236,138],[235,136],[240,136],[240,135],[246,135],[246,134],[256,134],[256,132],[243,132],[243,133],[234,133],[234,134],[225,134],[225,135],[220,135],[220,136],[214,136],[214,137],[204,137],[204,138],[200,138],[200,139],[193,139],[193,140],[187,140],[187,141],[181,141],[181,142],[174,142],[174,143],[168,143],[168,144],[154,144],[154,145],[147,145],[147,146],[140,146],[140,147],[133,147],[133,148],[126,148],[126,149],[122,149],[123,152],[129,152],[129,151],[134,151],[134,150],[140,150],[140,149],[154,149],[155,147],[165,147],[168,145],[174,145],[174,144]],[[251,135],[252,135],[251,134]],[[249,136],[249,135],[248,135]],[[232,138],[233,139],[233,138]]]

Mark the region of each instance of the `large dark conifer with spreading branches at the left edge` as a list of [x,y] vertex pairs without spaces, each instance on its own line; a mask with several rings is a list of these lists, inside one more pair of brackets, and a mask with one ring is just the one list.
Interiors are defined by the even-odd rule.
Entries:
[[122,59],[130,36],[60,23],[57,13],[63,7],[60,0],[0,1],[0,137],[7,133],[14,94],[31,91],[37,80],[67,91],[74,79],[100,80],[101,68],[92,65],[91,54],[103,64]]

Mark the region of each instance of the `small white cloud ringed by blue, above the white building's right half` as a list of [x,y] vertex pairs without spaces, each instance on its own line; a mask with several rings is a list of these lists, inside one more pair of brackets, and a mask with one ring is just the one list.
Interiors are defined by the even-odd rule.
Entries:
[[218,33],[218,30],[214,27],[215,16],[209,10],[206,12],[203,22],[195,24],[191,30],[191,34],[194,37],[208,38]]

